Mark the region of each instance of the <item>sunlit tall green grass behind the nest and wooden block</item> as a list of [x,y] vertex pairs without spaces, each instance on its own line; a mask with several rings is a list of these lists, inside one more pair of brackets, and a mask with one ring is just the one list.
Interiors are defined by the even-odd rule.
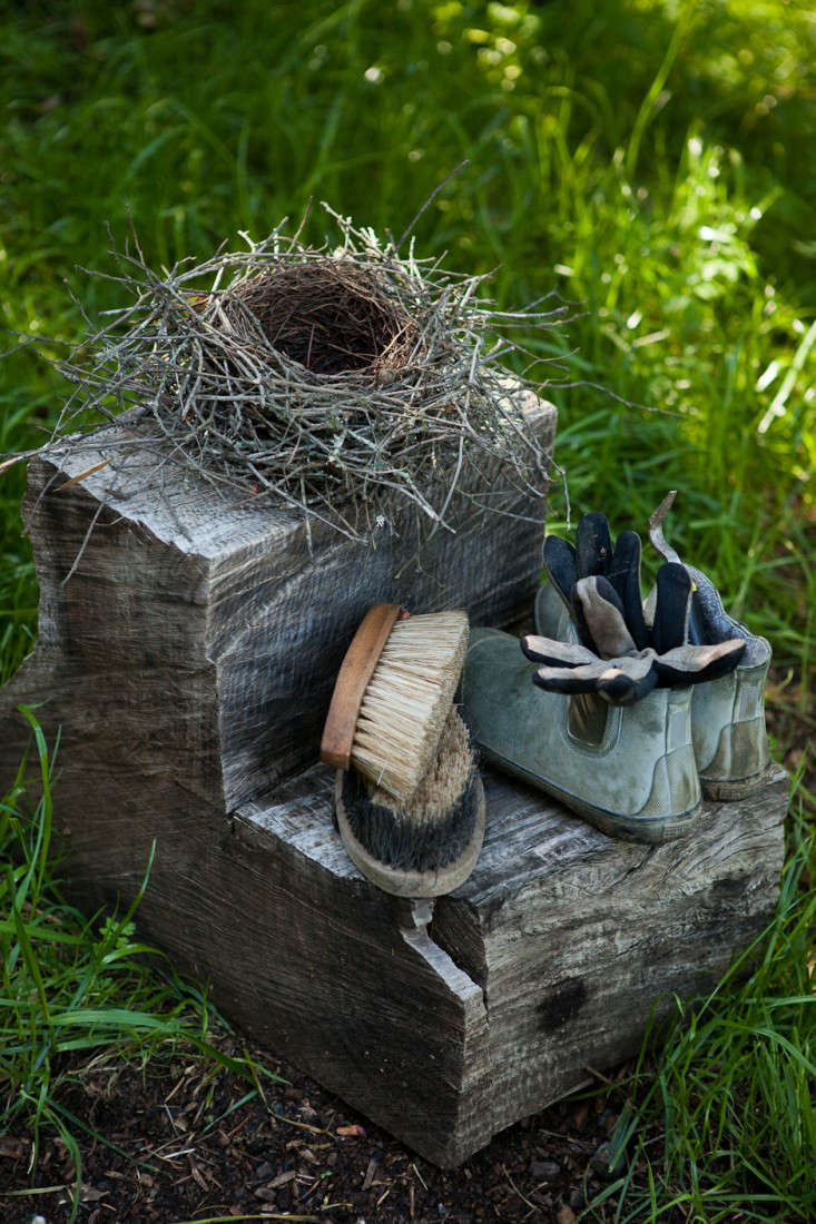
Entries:
[[[402,0],[386,22],[371,0],[85,0],[6,12],[0,45],[9,327],[75,337],[62,278],[91,313],[120,304],[115,283],[76,269],[111,269],[105,223],[121,242],[132,218],[156,266],[298,219],[312,195],[402,233],[468,158],[418,244],[463,271],[497,267],[502,305],[553,289],[580,304],[539,350],[584,383],[551,390],[573,504],[637,525],[678,485],[675,541],[782,660],[811,662],[812,15],[772,0]],[[319,209],[306,233],[326,236]],[[11,449],[61,388],[31,351],[2,373]],[[7,526],[18,480],[0,490],[16,558],[0,640],[15,659],[32,632]],[[776,597],[780,567],[791,600]]]

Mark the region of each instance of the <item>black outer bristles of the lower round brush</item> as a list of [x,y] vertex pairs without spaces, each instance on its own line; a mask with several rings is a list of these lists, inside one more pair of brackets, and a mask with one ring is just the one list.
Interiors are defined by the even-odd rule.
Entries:
[[343,805],[354,836],[387,867],[433,871],[455,862],[473,838],[478,808],[478,771],[437,823],[417,825],[392,808],[372,803],[364,778],[349,770],[343,780]]

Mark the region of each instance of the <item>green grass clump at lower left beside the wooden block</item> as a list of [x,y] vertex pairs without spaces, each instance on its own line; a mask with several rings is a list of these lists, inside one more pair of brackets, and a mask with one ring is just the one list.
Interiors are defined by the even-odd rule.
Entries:
[[99,1055],[147,1061],[183,1047],[250,1081],[257,1069],[212,1044],[213,1012],[200,988],[135,938],[149,863],[126,913],[88,918],[66,902],[51,845],[53,760],[32,711],[21,712],[34,736],[40,797],[32,810],[22,761],[0,800],[0,1130],[33,1136],[33,1169],[43,1132],[59,1135],[75,1165],[74,1220],[87,1126],[65,1099]]

